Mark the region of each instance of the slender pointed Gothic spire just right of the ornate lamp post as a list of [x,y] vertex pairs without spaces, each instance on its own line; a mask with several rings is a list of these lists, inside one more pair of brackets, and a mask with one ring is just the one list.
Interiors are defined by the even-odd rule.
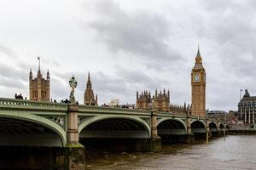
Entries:
[[97,100],[98,100],[97,95],[96,97],[94,97],[93,90],[91,88],[90,72],[89,72],[86,88],[84,91],[84,105],[98,105]]

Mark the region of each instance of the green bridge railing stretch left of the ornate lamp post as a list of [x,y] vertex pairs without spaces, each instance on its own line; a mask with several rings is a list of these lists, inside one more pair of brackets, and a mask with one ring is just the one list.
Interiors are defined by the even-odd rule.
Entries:
[[0,98],[1,109],[40,109],[50,111],[67,111],[67,104],[44,102],[44,101],[30,101],[26,99],[6,99]]

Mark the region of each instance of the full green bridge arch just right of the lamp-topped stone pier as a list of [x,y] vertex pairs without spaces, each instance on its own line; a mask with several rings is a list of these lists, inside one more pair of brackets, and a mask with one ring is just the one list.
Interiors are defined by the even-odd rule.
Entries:
[[[142,135],[141,138],[150,138],[150,134],[151,134],[151,130],[150,127],[148,125],[147,122],[143,121],[143,119],[139,118],[138,116],[118,116],[118,115],[114,115],[114,116],[93,116],[88,120],[85,120],[84,122],[81,122],[79,124],[79,135],[84,137],[84,130],[98,130],[99,131],[105,131],[108,130],[108,132],[110,130],[116,130],[115,133],[116,135],[113,136],[113,138],[115,137],[119,137],[119,135],[123,135],[125,133],[119,134],[119,130],[124,130],[125,129],[130,129],[132,128],[133,130],[135,130],[134,128],[138,127],[138,130],[140,130],[140,134],[138,135]],[[143,130],[144,129],[144,130]],[[107,132],[107,133],[108,133]],[[108,134],[105,133],[106,136],[108,136]],[[125,135],[129,136],[129,132],[126,132]],[[88,137],[87,133],[87,137]],[[113,134],[112,134],[113,135]],[[136,134],[134,134],[135,138],[139,138],[139,136],[136,136]],[[86,135],[85,137],[86,138]]]

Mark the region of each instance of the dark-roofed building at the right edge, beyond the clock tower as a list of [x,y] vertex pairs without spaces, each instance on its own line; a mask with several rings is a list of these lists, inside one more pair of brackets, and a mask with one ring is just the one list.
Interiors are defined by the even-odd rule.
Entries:
[[256,114],[256,96],[251,96],[248,90],[245,90],[241,101],[238,103],[238,116],[245,123],[254,123]]

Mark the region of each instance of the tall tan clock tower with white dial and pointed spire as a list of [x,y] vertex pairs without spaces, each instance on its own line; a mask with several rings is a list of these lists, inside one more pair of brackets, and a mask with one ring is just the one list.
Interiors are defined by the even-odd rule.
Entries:
[[191,71],[192,116],[206,116],[206,71],[202,65],[200,50]]

